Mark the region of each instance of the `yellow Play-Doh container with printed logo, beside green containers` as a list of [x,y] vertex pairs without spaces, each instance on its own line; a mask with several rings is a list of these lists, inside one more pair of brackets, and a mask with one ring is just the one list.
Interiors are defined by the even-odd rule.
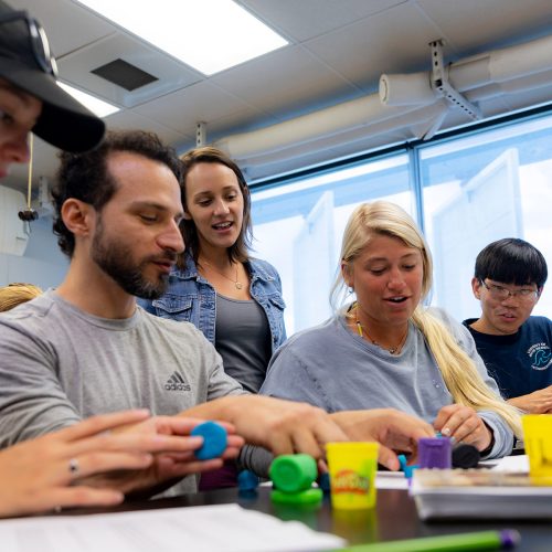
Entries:
[[375,506],[378,443],[328,443],[331,506],[359,510]]

